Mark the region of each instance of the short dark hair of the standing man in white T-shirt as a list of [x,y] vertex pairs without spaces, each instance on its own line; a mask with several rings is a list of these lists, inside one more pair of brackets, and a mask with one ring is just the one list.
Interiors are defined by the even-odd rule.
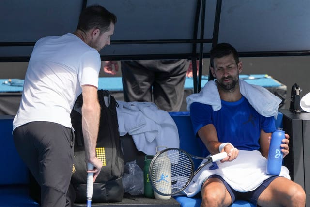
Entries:
[[86,32],[96,28],[99,29],[100,32],[107,32],[111,23],[116,23],[116,16],[113,13],[109,12],[103,6],[92,5],[86,7],[81,12],[78,19],[77,30]]

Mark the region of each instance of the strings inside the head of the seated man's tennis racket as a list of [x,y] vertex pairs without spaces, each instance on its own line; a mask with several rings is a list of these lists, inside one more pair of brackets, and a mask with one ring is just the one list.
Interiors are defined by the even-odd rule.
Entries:
[[151,168],[154,188],[162,195],[183,190],[194,172],[192,160],[182,151],[173,149],[160,154]]

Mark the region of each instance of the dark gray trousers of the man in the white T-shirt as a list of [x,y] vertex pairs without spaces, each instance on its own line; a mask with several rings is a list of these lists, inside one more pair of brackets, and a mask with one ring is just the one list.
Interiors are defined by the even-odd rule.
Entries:
[[44,121],[30,122],[13,131],[16,149],[41,187],[41,207],[73,206],[69,189],[74,133],[71,128]]

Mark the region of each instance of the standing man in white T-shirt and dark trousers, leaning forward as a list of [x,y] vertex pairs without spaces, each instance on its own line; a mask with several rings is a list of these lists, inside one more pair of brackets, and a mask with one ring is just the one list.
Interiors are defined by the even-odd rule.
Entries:
[[13,138],[41,187],[41,207],[73,206],[75,196],[68,191],[74,149],[70,112],[80,93],[85,161],[94,166],[88,171],[94,173],[93,181],[100,173],[102,162],[95,154],[99,51],[110,44],[115,23],[116,16],[104,7],[90,6],[80,14],[74,33],[41,38],[33,48]]

